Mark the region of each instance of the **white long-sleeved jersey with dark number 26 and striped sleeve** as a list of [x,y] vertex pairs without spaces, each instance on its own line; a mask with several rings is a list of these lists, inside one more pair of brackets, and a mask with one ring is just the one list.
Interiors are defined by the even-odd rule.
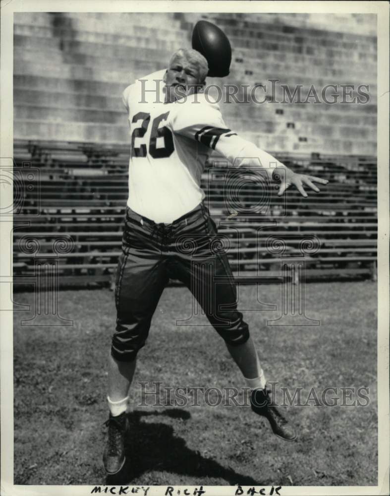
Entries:
[[171,223],[201,203],[201,175],[213,150],[231,163],[258,151],[224,124],[218,104],[202,93],[163,103],[164,72],[123,92],[131,136],[127,205],[157,223]]

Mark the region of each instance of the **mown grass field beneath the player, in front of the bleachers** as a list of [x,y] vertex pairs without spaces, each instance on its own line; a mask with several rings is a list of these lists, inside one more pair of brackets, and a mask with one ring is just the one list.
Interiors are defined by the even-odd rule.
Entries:
[[[279,303],[279,286],[260,288]],[[364,282],[311,283],[306,313],[320,326],[266,325],[278,312],[243,311],[267,378],[292,391],[369,388],[368,406],[288,407],[299,438],[285,442],[249,407],[137,406],[132,389],[131,434],[124,469],[106,478],[106,357],[114,328],[106,289],[58,293],[58,311],[71,326],[21,326],[33,316],[34,294],[15,293],[31,312],[14,313],[14,483],[132,485],[376,485],[377,295]],[[240,301],[256,307],[256,289]],[[207,324],[175,326],[189,316],[191,295],[165,290],[149,340],[139,353],[134,384],[245,386],[223,341]],[[338,394],[339,395],[339,394]],[[355,395],[354,395],[355,397]]]

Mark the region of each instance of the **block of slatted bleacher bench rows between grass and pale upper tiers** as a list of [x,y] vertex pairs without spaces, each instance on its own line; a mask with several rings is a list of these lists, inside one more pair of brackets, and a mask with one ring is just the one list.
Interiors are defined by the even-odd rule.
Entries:
[[[61,278],[64,281],[78,278],[85,282],[91,278],[107,281],[116,267],[114,259],[120,253],[127,200],[128,143],[100,146],[85,142],[15,140],[14,150],[16,164],[30,162],[33,167],[39,167],[41,193],[38,211],[37,205],[29,203],[27,196],[22,215],[15,215],[15,272],[35,270],[34,254],[18,252],[18,240],[22,236],[40,239],[41,249],[48,250],[50,258],[52,242],[56,236],[66,234],[72,237],[75,247],[72,253],[57,258]],[[256,234],[260,229],[260,243],[268,236],[281,239],[284,236],[286,253],[290,255],[298,254],[298,237],[317,236],[319,251],[304,258],[307,272],[312,275],[374,273],[376,159],[302,153],[275,155],[297,172],[319,175],[330,183],[326,190],[306,199],[290,190],[285,212],[280,210],[282,202],[273,195],[264,220],[253,221],[249,217],[230,216],[231,212],[226,208],[226,191],[220,189],[220,184],[208,181],[210,171],[206,170],[202,175],[202,184],[208,188],[206,201],[212,215],[225,216],[218,219],[222,224],[219,233],[229,237],[228,257],[232,266],[248,273],[250,267],[268,268],[269,275],[275,272],[273,267],[281,263],[280,258],[273,258],[265,246],[256,247],[259,243]],[[24,174],[28,168],[18,170]],[[321,173],[316,174],[316,171]],[[215,167],[213,172],[225,174],[228,179],[236,171]],[[243,203],[257,201],[256,186],[244,186],[239,199]],[[39,215],[32,215],[36,213]],[[29,227],[18,230],[18,221],[28,222]],[[258,253],[262,255],[259,260]],[[75,260],[80,263],[72,263]]]

